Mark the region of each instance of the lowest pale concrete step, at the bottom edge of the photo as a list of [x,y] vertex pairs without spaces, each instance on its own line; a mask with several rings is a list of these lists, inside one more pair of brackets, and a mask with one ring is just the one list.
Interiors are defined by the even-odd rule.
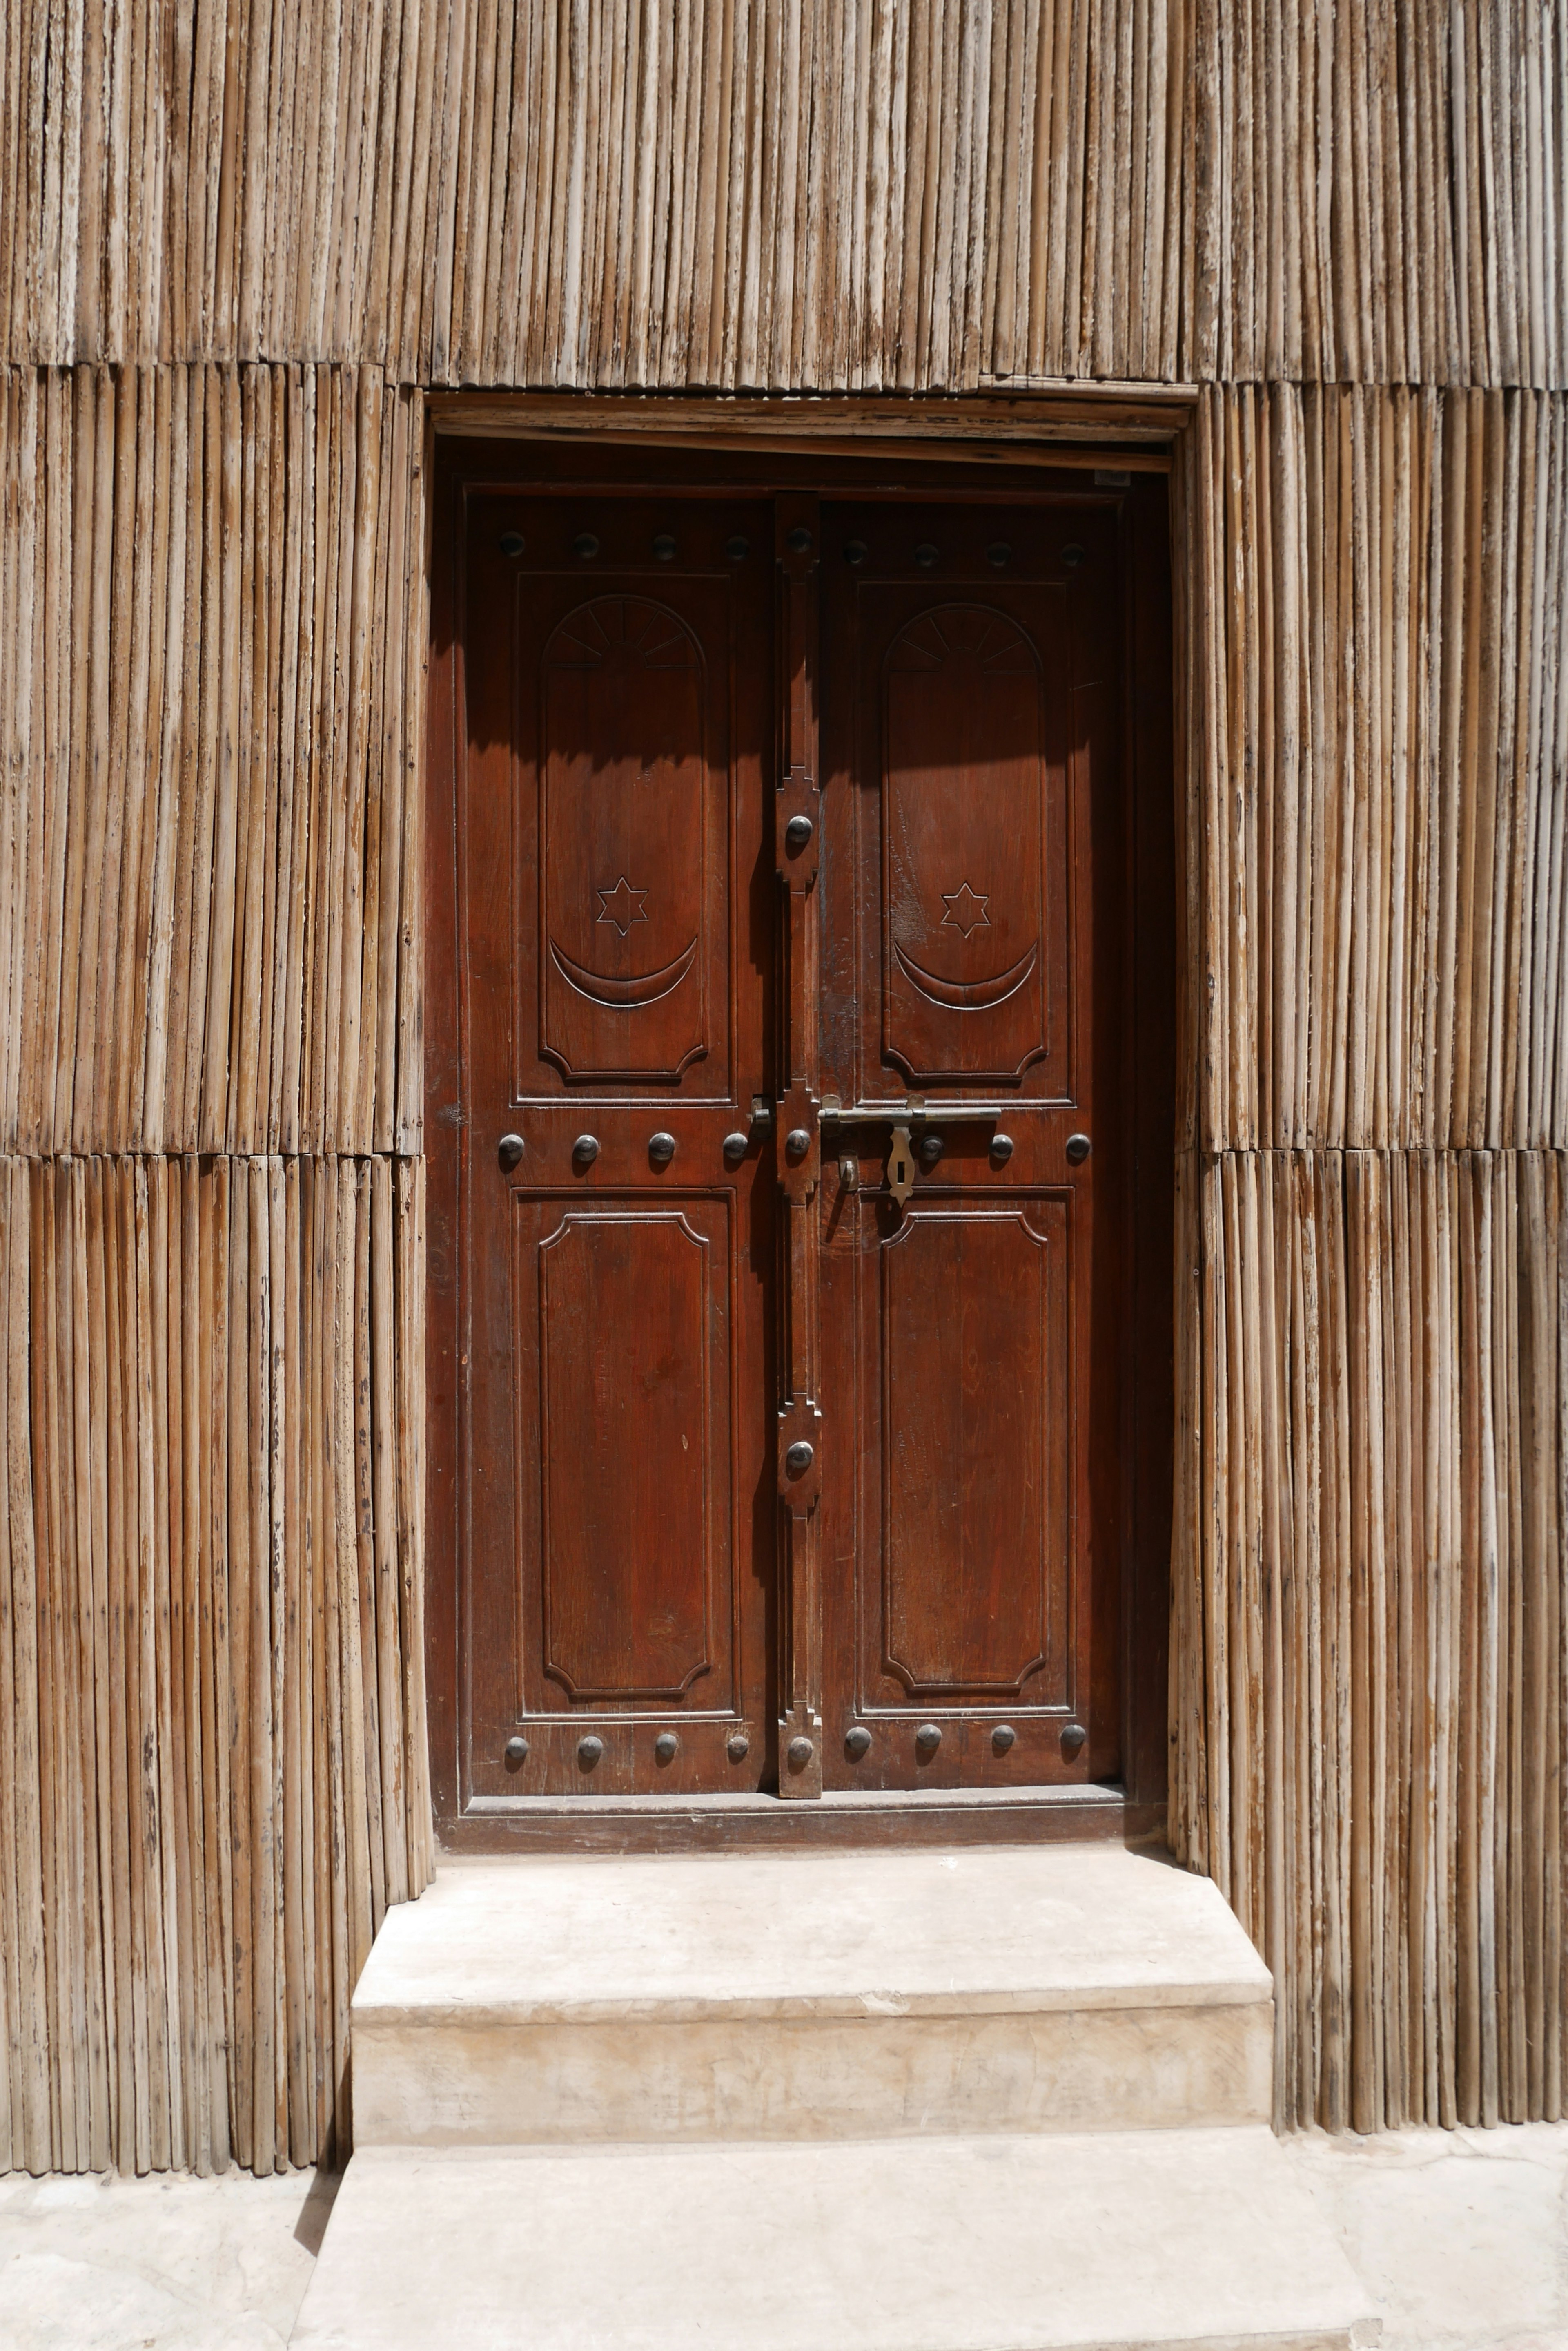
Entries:
[[355,2154],[294,2351],[1349,2351],[1265,2128]]

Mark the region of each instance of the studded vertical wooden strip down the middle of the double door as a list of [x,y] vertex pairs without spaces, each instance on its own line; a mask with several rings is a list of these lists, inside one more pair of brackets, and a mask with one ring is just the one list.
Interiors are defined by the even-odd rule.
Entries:
[[818,1232],[816,1187],[823,1168],[818,1103],[818,759],[816,759],[816,564],[818,501],[783,496],[776,508],[778,576],[778,788],[773,844],[783,893],[785,945],[785,1086],[773,1133],[783,1206],[783,1361],[778,1408],[780,1688],[778,1794],[823,1794],[823,1629],[820,1629],[820,1411],[818,1396]]

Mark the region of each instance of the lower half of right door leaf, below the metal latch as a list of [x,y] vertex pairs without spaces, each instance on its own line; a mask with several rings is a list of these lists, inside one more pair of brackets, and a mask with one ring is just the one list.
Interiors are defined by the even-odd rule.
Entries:
[[830,1780],[1079,1777],[1072,1194],[863,1192],[825,1258]]

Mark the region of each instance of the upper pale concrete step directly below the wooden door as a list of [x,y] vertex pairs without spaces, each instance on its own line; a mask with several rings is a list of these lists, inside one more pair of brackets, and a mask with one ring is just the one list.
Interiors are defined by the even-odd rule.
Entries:
[[1269,2114],[1269,1972],[1114,1846],[442,1862],[353,2001],[355,2146]]

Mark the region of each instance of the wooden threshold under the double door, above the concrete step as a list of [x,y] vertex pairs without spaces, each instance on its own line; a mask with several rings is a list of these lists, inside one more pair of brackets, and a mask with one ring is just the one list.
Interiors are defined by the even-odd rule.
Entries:
[[477,1799],[440,1824],[447,1853],[738,1853],[780,1846],[1161,1846],[1164,1803],[1114,1784],[842,1789],[778,1796]]

